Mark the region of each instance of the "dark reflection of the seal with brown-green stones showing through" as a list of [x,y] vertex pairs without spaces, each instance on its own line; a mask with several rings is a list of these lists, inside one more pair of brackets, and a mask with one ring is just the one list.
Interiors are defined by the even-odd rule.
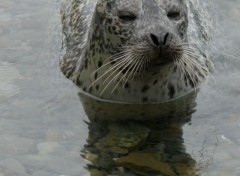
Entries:
[[[120,111],[115,111],[117,120],[114,114],[110,119],[110,116],[104,117],[106,114],[101,111],[98,112],[99,116],[96,114],[93,116],[89,112],[89,101],[83,101],[86,100],[86,95],[81,93],[79,95],[87,114],[91,115],[88,123],[89,136],[87,144],[82,149],[82,157],[90,162],[87,168],[92,176],[193,176],[198,174],[196,161],[186,152],[182,137],[182,126],[191,121],[196,94],[172,102],[172,106],[168,109],[169,116],[166,113],[139,120],[130,119],[124,114],[123,119],[120,119],[118,116],[119,113],[121,114]],[[177,107],[182,107],[186,103],[188,106],[184,106],[186,108],[183,114]],[[163,105],[151,106],[156,111],[157,106],[161,109]],[[103,106],[105,106],[104,103]],[[127,108],[121,104],[112,105],[111,108],[114,111],[117,107],[121,109],[121,106]],[[128,106],[134,107],[134,105]],[[141,111],[139,106],[146,105],[136,107]],[[93,103],[91,107],[95,107]],[[176,111],[173,116],[172,112],[176,109],[179,109],[179,113]],[[150,106],[147,110],[150,111]],[[133,115],[133,117],[136,116]]]

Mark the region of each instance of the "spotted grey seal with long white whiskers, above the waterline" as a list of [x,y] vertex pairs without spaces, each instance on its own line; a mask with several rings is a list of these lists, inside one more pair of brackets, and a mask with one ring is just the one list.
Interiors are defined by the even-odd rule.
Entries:
[[212,70],[189,42],[184,0],[71,0],[61,13],[61,69],[95,97],[169,101],[196,90]]

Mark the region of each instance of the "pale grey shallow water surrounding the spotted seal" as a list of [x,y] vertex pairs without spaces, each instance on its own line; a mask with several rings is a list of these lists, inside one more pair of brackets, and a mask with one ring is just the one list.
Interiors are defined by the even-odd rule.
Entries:
[[[229,53],[237,53],[240,47],[240,1],[215,1],[216,9],[225,16],[221,20],[222,44]],[[145,161],[164,166],[165,174],[171,172],[166,169],[171,166],[178,172],[187,170],[204,176],[240,175],[238,58],[217,51],[219,56],[215,61],[214,79],[209,79],[201,89],[197,97],[197,111],[190,119],[157,127],[150,122],[128,122],[127,126],[110,122],[88,125],[78,89],[58,68],[61,47],[59,8],[59,1],[1,0],[0,176],[90,175],[98,168],[89,166],[89,171],[83,158],[90,150],[89,144],[95,145],[97,142],[97,151],[91,151],[95,155],[89,152],[88,156],[92,156],[93,161],[96,157],[103,159],[98,159],[96,163],[101,164],[99,168],[108,168],[112,161],[102,149],[106,146],[104,142],[111,137],[104,130],[106,127],[115,129],[112,132],[115,138],[124,140],[126,136],[135,136],[133,134],[137,132],[133,129],[139,129],[143,134],[148,134],[150,127],[154,129],[153,137],[138,149],[144,152],[131,153],[131,158],[119,160],[119,165],[127,160],[138,166],[146,166],[147,163],[138,162],[139,158],[145,158]],[[119,134],[119,128],[124,128],[126,133]],[[158,140],[153,140],[154,134]],[[145,136],[128,142],[133,145],[134,141],[141,142]],[[118,141],[111,145],[115,144],[118,145]],[[164,154],[161,153],[163,146],[168,146]],[[176,148],[183,161],[179,159],[179,153],[172,153]],[[114,150],[118,152],[116,158],[126,152],[120,149]],[[152,159],[156,156],[158,159]],[[177,156],[174,161],[182,164],[173,166],[172,156]],[[186,160],[188,165],[183,165]],[[179,169],[180,166],[182,169]],[[151,174],[156,175],[156,168],[151,167]],[[133,174],[128,168],[125,175]],[[139,167],[134,169],[139,170]],[[119,167],[109,172],[119,173],[123,170]],[[150,171],[146,174],[148,170],[140,170],[150,175]]]

